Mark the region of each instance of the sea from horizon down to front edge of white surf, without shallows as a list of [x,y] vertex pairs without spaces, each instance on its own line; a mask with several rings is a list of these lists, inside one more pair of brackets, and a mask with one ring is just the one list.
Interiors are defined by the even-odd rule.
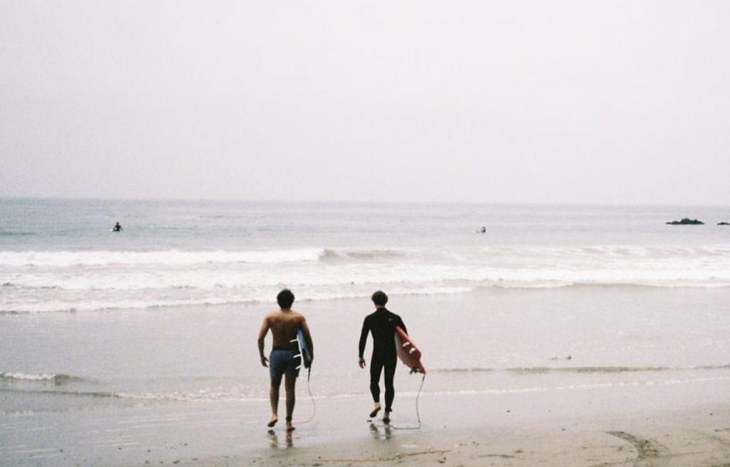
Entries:
[[[681,217],[706,225],[664,224]],[[716,224],[729,219],[726,207],[3,199],[0,313],[270,302],[281,287],[300,300],[727,287],[730,228]]]

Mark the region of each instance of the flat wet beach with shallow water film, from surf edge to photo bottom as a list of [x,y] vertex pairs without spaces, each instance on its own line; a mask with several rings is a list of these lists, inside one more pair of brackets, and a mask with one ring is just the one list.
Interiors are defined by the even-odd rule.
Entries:
[[[28,372],[39,374],[4,376],[0,459],[722,466],[730,463],[726,299],[724,288],[650,287],[393,296],[429,368],[420,430],[398,429],[418,422],[420,377],[402,366],[392,427],[367,421],[367,375],[356,367],[366,302],[304,301],[318,342],[316,414],[301,423],[313,406],[300,378],[291,437],[283,424],[273,434],[264,426],[268,377],[254,350],[262,306],[4,315],[4,365],[32,360]],[[42,379],[40,368],[58,374]]]

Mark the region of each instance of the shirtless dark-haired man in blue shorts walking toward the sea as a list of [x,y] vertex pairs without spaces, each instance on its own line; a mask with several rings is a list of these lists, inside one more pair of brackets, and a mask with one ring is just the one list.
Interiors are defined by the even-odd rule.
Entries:
[[[293,431],[291,425],[291,414],[294,412],[296,377],[299,376],[297,366],[301,364],[300,358],[295,357],[299,353],[299,346],[296,343],[296,333],[301,328],[304,332],[304,340],[310,348],[310,356],[314,360],[314,345],[312,344],[312,336],[310,328],[307,326],[307,320],[304,316],[293,311],[291,304],[294,303],[294,294],[291,290],[284,289],[276,300],[280,309],[266,314],[264,323],[261,324],[261,331],[258,331],[258,354],[261,357],[261,365],[269,367],[269,375],[272,379],[272,387],[269,392],[269,398],[272,403],[272,420],[269,422],[269,428],[276,425],[279,421],[279,387],[281,386],[281,377],[285,376],[284,387],[286,390],[286,431]],[[272,330],[274,339],[272,352],[269,358],[264,355],[264,338],[266,333]],[[292,342],[293,341],[293,342]]]

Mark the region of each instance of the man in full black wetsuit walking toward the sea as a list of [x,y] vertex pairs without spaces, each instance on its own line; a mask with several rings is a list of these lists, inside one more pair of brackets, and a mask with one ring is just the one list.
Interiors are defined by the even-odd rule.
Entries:
[[370,393],[375,407],[370,412],[370,417],[377,416],[380,412],[380,373],[385,369],[385,415],[383,422],[391,422],[391,410],[393,397],[396,390],[393,388],[393,376],[396,374],[396,326],[408,333],[403,320],[395,313],[385,309],[388,303],[388,296],[385,292],[378,290],[372,294],[372,303],[375,304],[375,312],[368,314],[363,322],[363,330],[360,333],[360,359],[358,365],[365,368],[365,344],[368,333],[372,333],[372,358],[370,359]]

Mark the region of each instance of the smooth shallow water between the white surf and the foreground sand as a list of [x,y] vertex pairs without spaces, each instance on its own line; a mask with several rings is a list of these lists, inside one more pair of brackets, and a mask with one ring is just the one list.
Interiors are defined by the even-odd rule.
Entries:
[[[393,296],[390,305],[423,349],[426,393],[458,394],[730,376],[728,298],[724,288],[586,286]],[[356,357],[370,305],[299,305],[315,339],[313,392],[366,395],[367,372]],[[265,406],[255,337],[266,311],[248,304],[2,316],[0,391],[13,400],[3,411],[169,401]],[[397,374],[403,393],[415,393],[419,381]]]

